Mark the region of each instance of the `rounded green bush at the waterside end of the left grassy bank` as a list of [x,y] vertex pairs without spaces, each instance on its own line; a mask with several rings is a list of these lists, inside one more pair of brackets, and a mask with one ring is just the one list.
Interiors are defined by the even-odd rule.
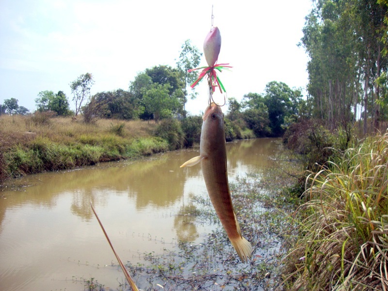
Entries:
[[184,145],[185,133],[176,119],[164,119],[155,130],[155,135],[165,139],[170,149],[178,149]]

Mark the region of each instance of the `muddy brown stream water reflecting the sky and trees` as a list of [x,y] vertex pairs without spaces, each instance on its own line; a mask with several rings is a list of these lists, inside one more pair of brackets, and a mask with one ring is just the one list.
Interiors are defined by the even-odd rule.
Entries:
[[[280,143],[228,143],[229,180],[269,166]],[[90,202],[124,262],[141,262],[178,240],[201,242],[211,226],[178,215],[191,196],[207,196],[200,166],[179,168],[198,154],[181,150],[8,181],[0,192],[0,290],[84,290],[90,278],[113,289],[124,283]]]

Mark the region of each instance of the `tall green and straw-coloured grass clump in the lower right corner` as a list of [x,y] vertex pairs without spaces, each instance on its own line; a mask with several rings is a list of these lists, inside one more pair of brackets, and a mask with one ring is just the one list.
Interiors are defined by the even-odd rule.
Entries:
[[[328,170],[331,169],[331,170]],[[388,134],[311,173],[285,259],[289,290],[388,290]]]

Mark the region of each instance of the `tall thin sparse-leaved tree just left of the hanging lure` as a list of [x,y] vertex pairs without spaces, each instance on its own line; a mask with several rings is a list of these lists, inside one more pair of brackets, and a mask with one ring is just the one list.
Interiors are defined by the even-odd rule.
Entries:
[[[186,117],[186,102],[188,95],[188,86],[196,80],[197,76],[194,72],[189,73],[188,70],[197,67],[201,61],[202,53],[198,48],[191,44],[190,39],[187,39],[181,47],[179,59],[177,61],[177,68],[180,73],[180,78],[184,82],[183,92],[183,116]],[[196,97],[195,89],[192,89],[192,99]]]

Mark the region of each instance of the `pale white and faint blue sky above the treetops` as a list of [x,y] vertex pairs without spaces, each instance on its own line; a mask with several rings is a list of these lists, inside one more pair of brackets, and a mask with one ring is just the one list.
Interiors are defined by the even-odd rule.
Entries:
[[[33,112],[40,91],[64,91],[86,72],[95,80],[91,93],[128,90],[146,68],[176,65],[186,39],[203,52],[211,26],[222,37],[218,63],[227,97],[241,100],[262,93],[270,81],[307,85],[303,36],[311,0],[0,0],[0,103],[16,98]],[[206,65],[202,57],[201,66]],[[186,109],[207,106],[205,82]]]

